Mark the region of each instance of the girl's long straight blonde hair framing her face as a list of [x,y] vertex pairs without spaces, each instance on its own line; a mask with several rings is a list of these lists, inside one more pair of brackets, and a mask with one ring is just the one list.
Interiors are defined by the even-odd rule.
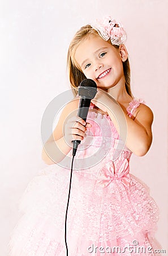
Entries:
[[[76,48],[81,43],[81,40],[84,40],[85,38],[91,35],[100,36],[98,35],[98,32],[94,30],[90,25],[81,27],[80,30],[76,32],[68,48],[67,68],[68,68],[68,74],[69,74],[69,79],[70,79],[72,89],[77,88],[80,85],[80,82],[87,78],[85,77],[84,73],[81,71],[79,65],[76,63],[75,51],[76,51]],[[111,44],[110,40],[108,42]],[[111,44],[111,45],[117,49],[119,48],[119,46],[115,46],[114,44]],[[128,59],[123,62],[123,72],[125,77],[126,91],[132,97],[131,84],[130,84],[131,71],[130,71],[130,63]],[[77,90],[73,90],[73,93],[76,96]]]

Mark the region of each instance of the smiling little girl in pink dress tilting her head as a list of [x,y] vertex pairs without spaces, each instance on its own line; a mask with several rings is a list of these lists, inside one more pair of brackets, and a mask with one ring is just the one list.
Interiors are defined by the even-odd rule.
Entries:
[[[66,255],[70,168],[65,159],[72,158],[75,139],[81,144],[67,215],[68,255],[156,255],[158,207],[129,167],[132,152],[143,156],[150,148],[153,113],[132,96],[125,40],[122,24],[111,17],[81,27],[72,39],[67,58],[72,89],[77,94],[80,82],[92,79],[97,94],[87,122],[77,116],[78,96],[64,107],[42,151],[50,166],[31,181],[21,200],[24,214],[11,235],[10,256]],[[117,104],[123,126],[114,111]],[[126,138],[120,133],[124,122]]]

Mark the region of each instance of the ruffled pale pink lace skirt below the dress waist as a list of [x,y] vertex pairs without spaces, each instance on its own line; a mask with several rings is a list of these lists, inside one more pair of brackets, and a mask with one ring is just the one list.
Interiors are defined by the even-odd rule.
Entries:
[[[154,254],[159,212],[148,187],[133,175],[130,186],[116,179],[102,187],[83,174],[72,174],[68,255],[160,255]],[[9,256],[66,255],[69,183],[70,170],[57,164],[42,170],[29,183],[20,200],[23,216],[11,234]]]

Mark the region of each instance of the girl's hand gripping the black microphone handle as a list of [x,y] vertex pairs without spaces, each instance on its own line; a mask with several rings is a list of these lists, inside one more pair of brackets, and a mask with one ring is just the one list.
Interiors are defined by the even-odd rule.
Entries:
[[68,116],[63,126],[63,136],[68,146],[72,147],[72,141],[82,141],[84,139],[85,131],[91,126],[90,123],[86,123],[77,115],[71,115],[71,117]]

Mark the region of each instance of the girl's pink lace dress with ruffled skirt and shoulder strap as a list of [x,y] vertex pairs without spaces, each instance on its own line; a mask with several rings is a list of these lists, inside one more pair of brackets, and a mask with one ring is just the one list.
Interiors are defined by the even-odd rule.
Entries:
[[[140,102],[130,102],[130,117]],[[110,117],[96,113],[93,105],[88,122],[92,127],[74,159],[68,255],[160,255],[153,252],[158,248],[154,239],[158,207],[147,185],[130,174],[132,152],[123,148]],[[114,152],[118,158],[111,160]],[[66,255],[64,219],[69,183],[70,169],[53,164],[28,184],[20,201],[23,216],[11,234],[10,256]]]

